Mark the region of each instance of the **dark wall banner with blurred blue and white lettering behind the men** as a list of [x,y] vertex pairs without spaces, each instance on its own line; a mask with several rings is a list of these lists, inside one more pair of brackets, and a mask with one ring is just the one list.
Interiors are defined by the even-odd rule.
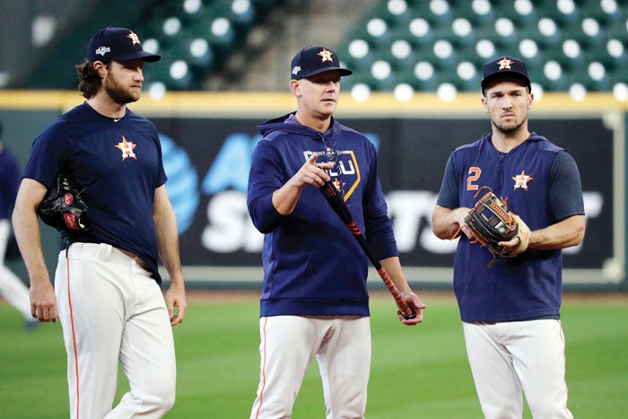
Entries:
[[[252,118],[151,118],[179,220],[181,258],[191,281],[261,280],[262,235],[249,220],[246,192],[257,141]],[[456,242],[432,233],[432,210],[449,153],[490,130],[488,118],[342,118],[379,153],[379,176],[397,246],[410,281],[451,280]],[[538,118],[531,131],[569,150],[585,195],[584,242],[564,250],[565,283],[604,284],[623,278],[624,214],[618,211],[623,168],[617,133],[604,118]],[[621,170],[621,171],[618,171]],[[620,193],[616,193],[620,190]],[[620,223],[621,225],[615,225]],[[618,234],[619,240],[611,240]],[[620,249],[621,248],[621,249]],[[205,266],[205,268],[204,268]],[[213,266],[207,269],[207,266]]]

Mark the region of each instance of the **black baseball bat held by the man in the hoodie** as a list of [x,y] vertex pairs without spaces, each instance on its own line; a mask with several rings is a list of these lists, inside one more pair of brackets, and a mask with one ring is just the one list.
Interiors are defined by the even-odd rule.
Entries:
[[399,308],[399,310],[401,310],[404,318],[406,320],[414,319],[416,317],[416,312],[408,307],[406,301],[401,298],[401,294],[399,293],[397,286],[392,282],[392,279],[390,279],[390,275],[388,275],[388,272],[386,272],[384,266],[381,266],[379,260],[373,256],[371,248],[369,247],[369,244],[366,242],[366,239],[362,235],[360,227],[358,227],[358,224],[355,223],[355,221],[353,220],[353,215],[349,211],[349,208],[346,206],[345,200],[341,196],[338,196],[338,191],[336,187],[332,185],[329,181],[327,181],[325,182],[325,185],[320,188],[320,191],[323,193],[323,196],[325,196],[325,199],[327,199],[327,202],[332,207],[334,212],[338,214],[342,222],[345,223],[346,228],[351,231],[353,238],[357,240],[362,250],[364,250],[364,253],[366,253],[367,258],[371,260],[371,264],[375,266],[379,277],[382,281],[384,281],[384,284],[386,284],[386,286],[388,287],[388,291],[390,291],[392,296],[395,298],[395,301],[397,302],[397,307]]

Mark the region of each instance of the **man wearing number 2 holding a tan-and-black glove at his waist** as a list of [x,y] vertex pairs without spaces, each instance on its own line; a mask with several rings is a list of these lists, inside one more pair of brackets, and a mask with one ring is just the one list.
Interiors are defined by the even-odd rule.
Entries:
[[515,57],[484,65],[492,132],[449,156],[433,231],[459,237],[454,290],[486,418],[571,418],[560,323],[562,249],[584,238],[578,167],[528,131],[528,70]]

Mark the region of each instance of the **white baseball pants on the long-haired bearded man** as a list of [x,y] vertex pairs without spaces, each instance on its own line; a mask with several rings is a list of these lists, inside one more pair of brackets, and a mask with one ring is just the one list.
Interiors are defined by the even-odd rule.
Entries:
[[[161,418],[174,404],[176,365],[159,285],[109,244],[59,253],[57,308],[67,352],[70,416]],[[118,362],[130,390],[112,409]]]

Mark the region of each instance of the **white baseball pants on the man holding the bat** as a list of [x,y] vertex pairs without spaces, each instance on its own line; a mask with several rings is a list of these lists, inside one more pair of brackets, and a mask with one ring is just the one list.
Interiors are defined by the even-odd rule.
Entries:
[[327,419],[364,417],[371,372],[369,317],[263,317],[259,332],[261,368],[251,419],[291,417],[314,356]]

